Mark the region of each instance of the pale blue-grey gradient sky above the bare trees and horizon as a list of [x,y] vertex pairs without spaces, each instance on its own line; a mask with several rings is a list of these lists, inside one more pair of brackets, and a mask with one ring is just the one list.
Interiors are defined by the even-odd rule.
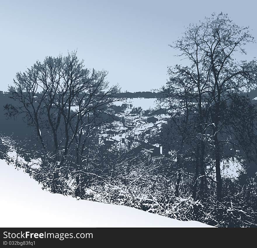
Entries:
[[[167,66],[183,63],[169,44],[185,27],[222,11],[257,39],[256,9],[253,0],[0,0],[0,90],[36,60],[74,50],[87,68],[107,70],[110,85],[122,91],[159,89]],[[256,57],[257,44],[246,48],[247,59]]]

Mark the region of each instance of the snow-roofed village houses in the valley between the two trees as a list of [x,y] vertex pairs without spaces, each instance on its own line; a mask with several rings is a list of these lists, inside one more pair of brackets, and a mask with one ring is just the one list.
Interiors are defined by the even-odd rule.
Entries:
[[[99,144],[108,144],[116,149],[125,149],[129,153],[147,153],[151,159],[164,157],[163,146],[154,143],[153,137],[167,125],[169,115],[152,114],[145,116],[142,113],[132,114],[131,109],[115,114],[118,120],[112,122],[112,128],[102,128],[99,134]],[[150,142],[150,137],[152,143]]]

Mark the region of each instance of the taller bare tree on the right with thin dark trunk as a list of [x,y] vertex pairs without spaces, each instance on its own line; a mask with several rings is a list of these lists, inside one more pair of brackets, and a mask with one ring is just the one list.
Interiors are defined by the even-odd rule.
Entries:
[[[182,77],[187,81],[192,103],[195,103],[194,111],[199,115],[199,133],[205,135],[211,132],[218,200],[222,197],[220,128],[223,120],[220,106],[229,100],[228,93],[256,87],[256,60],[247,63],[233,57],[237,53],[246,53],[244,45],[248,42],[253,42],[248,28],[239,27],[227,15],[220,13],[205,18],[197,25],[190,25],[183,37],[171,45],[180,51],[179,56],[189,60],[189,65],[171,67],[170,83],[173,84],[173,77]],[[175,87],[178,89],[178,86]],[[203,143],[201,147],[203,159]]]

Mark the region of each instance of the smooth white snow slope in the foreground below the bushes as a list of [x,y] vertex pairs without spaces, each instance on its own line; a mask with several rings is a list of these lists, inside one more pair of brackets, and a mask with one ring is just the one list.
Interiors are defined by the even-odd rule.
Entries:
[[211,227],[130,207],[52,194],[1,159],[0,171],[0,227]]

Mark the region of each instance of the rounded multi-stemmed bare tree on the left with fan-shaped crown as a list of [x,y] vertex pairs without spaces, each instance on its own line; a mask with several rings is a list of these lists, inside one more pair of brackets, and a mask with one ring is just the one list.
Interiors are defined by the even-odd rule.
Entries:
[[[63,167],[74,150],[81,163],[93,129],[110,121],[108,107],[121,100],[116,98],[119,86],[109,87],[106,76],[106,71],[84,68],[76,52],[46,57],[43,63],[37,61],[26,72],[16,74],[9,91],[18,104],[6,105],[6,110],[25,114],[57,168]],[[59,172],[54,173],[54,180]]]

